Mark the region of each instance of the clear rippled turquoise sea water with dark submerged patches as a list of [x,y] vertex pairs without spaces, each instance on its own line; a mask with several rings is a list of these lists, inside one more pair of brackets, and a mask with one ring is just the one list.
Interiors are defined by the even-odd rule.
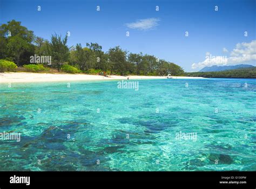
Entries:
[[0,171],[256,170],[255,79],[138,82],[0,84]]

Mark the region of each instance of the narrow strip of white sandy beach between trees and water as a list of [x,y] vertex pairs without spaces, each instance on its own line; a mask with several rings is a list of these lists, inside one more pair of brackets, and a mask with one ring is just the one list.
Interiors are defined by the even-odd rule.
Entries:
[[[26,83],[26,82],[64,82],[78,80],[122,80],[122,79],[166,79],[166,76],[99,76],[68,73],[28,73],[5,72],[0,73],[0,83]],[[202,79],[203,77],[173,76],[173,79]]]

